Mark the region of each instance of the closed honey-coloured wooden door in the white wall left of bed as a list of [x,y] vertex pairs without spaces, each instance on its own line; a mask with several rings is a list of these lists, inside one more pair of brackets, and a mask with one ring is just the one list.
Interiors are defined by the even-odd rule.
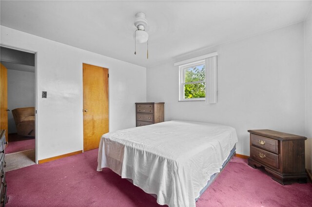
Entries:
[[83,64],[83,151],[108,132],[108,69]]

